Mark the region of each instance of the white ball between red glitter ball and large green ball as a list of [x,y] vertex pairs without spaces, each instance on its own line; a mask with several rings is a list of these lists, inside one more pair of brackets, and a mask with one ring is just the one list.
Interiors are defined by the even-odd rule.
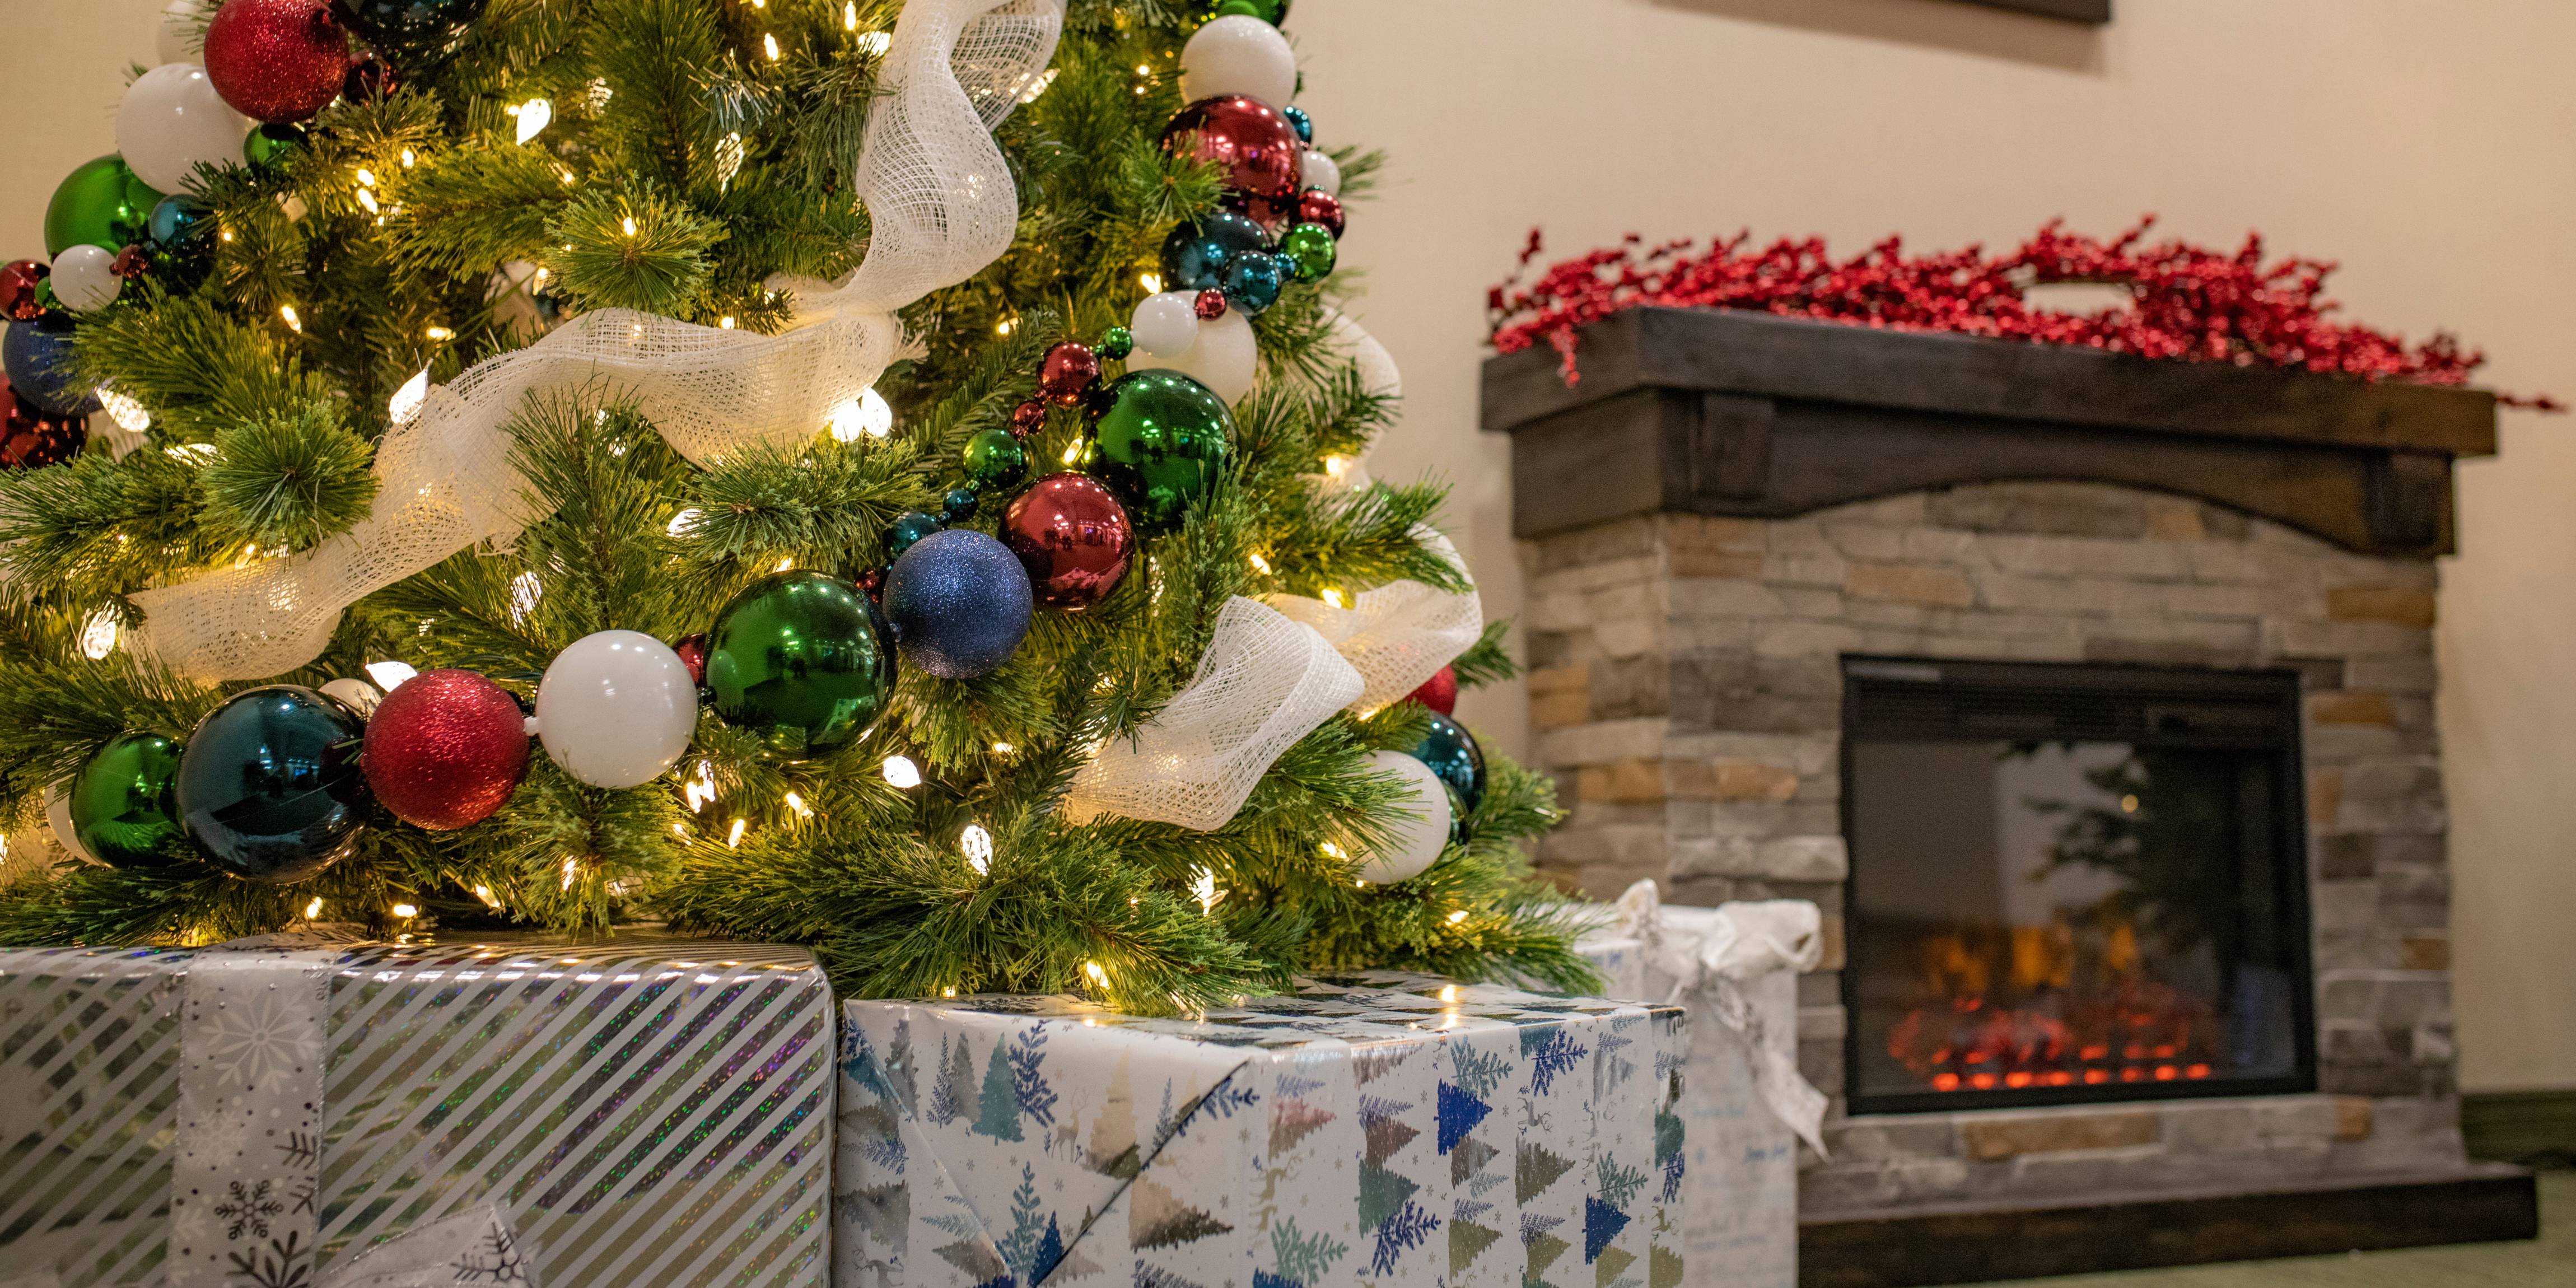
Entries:
[[670,773],[698,732],[698,683],[670,644],[600,631],[554,654],[536,685],[536,737],[564,773],[595,788],[639,788]]

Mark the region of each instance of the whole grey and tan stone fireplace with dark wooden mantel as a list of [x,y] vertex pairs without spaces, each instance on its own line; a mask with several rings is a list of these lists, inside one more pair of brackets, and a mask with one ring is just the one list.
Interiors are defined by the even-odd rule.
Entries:
[[1674,309],[1582,374],[1486,368],[1540,860],[1824,907],[1803,1283],[2535,1229],[2450,1023],[2434,559],[2486,394]]

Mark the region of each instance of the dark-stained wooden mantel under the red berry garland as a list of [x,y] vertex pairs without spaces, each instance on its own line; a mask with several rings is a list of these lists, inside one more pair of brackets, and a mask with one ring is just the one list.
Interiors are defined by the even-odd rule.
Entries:
[[1484,363],[1517,536],[1672,510],[1793,518],[1978,482],[2107,482],[2383,556],[2450,554],[2483,389],[2365,384],[1728,309],[1631,309]]

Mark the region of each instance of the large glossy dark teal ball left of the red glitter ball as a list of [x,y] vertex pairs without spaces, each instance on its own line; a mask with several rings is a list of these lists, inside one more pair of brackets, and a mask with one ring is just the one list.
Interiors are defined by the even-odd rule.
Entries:
[[188,840],[245,881],[283,886],[330,868],[366,829],[363,742],[366,721],[309,688],[234,693],[178,760]]

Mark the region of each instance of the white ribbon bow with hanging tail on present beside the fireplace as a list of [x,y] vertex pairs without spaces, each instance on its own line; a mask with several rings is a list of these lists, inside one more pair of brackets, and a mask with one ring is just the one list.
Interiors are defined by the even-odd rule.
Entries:
[[1667,1002],[1692,999],[1744,1041],[1762,1103],[1824,1157],[1824,1092],[1798,1074],[1795,1033],[1770,1033],[1747,987],[1772,971],[1814,971],[1824,961],[1824,917],[1806,899],[1726,904],[1703,930],[1662,912],[1654,881],[1618,896],[1618,927],[1646,951],[1646,966],[1672,979]]

